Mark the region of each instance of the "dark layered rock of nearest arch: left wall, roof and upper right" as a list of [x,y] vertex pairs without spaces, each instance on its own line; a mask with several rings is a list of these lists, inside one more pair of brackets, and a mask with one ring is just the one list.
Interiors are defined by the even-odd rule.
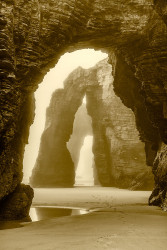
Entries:
[[0,199],[22,179],[33,92],[66,51],[102,49],[115,67],[122,58],[145,115],[167,143],[165,0],[1,0],[0,9]]

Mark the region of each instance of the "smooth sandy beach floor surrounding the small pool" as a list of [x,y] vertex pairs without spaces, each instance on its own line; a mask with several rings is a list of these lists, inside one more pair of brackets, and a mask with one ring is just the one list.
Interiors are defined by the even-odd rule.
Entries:
[[0,249],[166,250],[167,213],[147,205],[149,194],[101,187],[35,189],[33,206],[53,204],[91,212],[1,230]]

